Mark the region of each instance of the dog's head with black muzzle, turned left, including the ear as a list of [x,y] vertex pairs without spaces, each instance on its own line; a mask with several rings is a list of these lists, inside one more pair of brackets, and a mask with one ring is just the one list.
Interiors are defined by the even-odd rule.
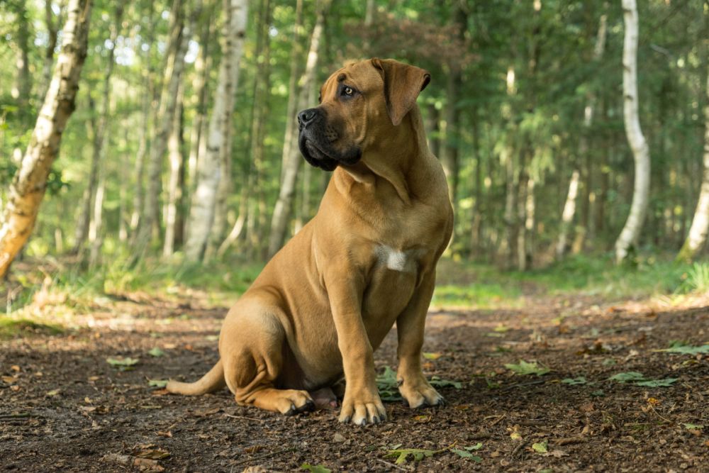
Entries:
[[320,88],[320,105],[298,113],[298,147],[311,165],[354,165],[403,126],[430,74],[391,59],[354,62]]

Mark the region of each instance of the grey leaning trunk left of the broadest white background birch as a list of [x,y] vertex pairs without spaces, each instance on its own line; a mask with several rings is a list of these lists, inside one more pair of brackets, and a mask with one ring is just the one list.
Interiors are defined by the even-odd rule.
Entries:
[[[175,0],[172,6],[172,21],[167,67],[164,71],[164,84],[160,96],[160,107],[157,113],[157,133],[150,146],[150,156],[147,162],[147,189],[143,204],[143,216],[138,226],[138,238],[135,242],[131,265],[134,265],[145,254],[152,237],[153,228],[160,225],[160,188],[162,175],[162,162],[167,148],[175,108],[177,107],[177,92],[184,69],[184,56],[189,43],[191,24],[185,25],[182,14],[182,0]],[[199,9],[195,7],[194,14]]]

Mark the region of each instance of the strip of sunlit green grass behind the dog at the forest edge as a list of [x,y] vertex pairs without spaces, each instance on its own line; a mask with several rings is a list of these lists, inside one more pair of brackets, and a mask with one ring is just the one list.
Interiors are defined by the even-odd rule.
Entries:
[[[31,304],[38,291],[64,294],[66,306],[74,311],[91,311],[100,296],[141,292],[148,296],[179,298],[199,291],[208,304],[229,306],[258,276],[262,263],[216,260],[208,265],[191,265],[179,260],[147,260],[126,269],[114,260],[94,272],[72,265],[16,274],[23,286],[11,311]],[[44,286],[44,287],[43,287]],[[633,265],[616,266],[613,255],[571,256],[544,269],[504,272],[491,265],[454,262],[444,258],[437,271],[432,307],[518,308],[521,296],[597,296],[605,301],[648,296],[677,296],[709,291],[709,263],[674,263],[667,258],[638,257]],[[6,329],[6,331],[11,329]]]

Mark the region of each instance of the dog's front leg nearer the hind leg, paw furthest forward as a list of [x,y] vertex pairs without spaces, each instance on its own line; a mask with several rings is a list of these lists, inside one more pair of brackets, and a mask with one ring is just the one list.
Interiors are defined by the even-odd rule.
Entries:
[[328,284],[328,297],[333,311],[337,346],[345,371],[345,399],[342,400],[340,422],[367,425],[386,421],[374,376],[374,355],[362,321],[362,291],[352,282]]

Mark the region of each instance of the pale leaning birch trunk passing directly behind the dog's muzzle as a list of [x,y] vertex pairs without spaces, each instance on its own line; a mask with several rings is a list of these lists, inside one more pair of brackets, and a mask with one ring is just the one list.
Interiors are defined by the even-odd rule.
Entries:
[[[281,180],[281,189],[279,190],[278,200],[276,201],[276,206],[274,206],[273,216],[271,219],[268,257],[275,255],[276,252],[281,249],[281,246],[283,246],[283,243],[286,240],[286,230],[291,218],[293,198],[296,191],[298,169],[301,166],[302,161],[300,151],[298,150],[298,135],[295,130],[295,111],[302,110],[308,106],[308,91],[313,87],[313,82],[315,81],[316,65],[318,64],[318,55],[320,50],[320,37],[323,34],[325,15],[327,14],[329,6],[330,1],[324,0],[320,4],[318,18],[311,35],[306,69],[303,72],[301,79],[298,81],[300,84],[300,90],[297,93],[298,99],[296,101],[296,108],[294,109],[293,115],[287,117],[287,120],[290,122],[290,128],[286,125],[284,149],[283,155],[281,156],[281,160],[283,162],[283,170],[281,175],[283,179]],[[297,38],[297,28],[294,35]],[[291,52],[291,72],[294,70],[292,67],[292,62],[297,60],[296,55],[297,52]],[[296,93],[293,91],[291,96],[295,95]]]

